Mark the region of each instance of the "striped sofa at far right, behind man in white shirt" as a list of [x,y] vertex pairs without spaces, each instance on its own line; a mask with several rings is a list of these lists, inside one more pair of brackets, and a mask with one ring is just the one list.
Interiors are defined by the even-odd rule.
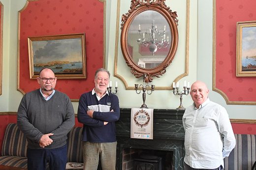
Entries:
[[256,135],[235,134],[236,146],[224,159],[224,170],[251,170],[256,161]]

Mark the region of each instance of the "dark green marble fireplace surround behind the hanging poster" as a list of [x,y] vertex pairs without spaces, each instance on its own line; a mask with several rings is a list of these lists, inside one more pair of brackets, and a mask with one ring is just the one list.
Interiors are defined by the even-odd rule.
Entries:
[[127,148],[168,151],[172,153],[172,170],[183,170],[185,156],[182,116],[185,110],[154,109],[153,140],[130,138],[131,109],[121,108],[117,128],[117,170],[123,167],[123,152]]

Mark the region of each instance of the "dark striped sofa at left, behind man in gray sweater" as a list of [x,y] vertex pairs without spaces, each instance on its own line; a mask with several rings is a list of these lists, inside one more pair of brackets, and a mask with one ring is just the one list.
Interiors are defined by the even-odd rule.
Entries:
[[[66,169],[83,169],[82,128],[73,127],[67,134]],[[27,169],[28,142],[17,124],[9,123],[5,129],[0,155],[0,165]]]

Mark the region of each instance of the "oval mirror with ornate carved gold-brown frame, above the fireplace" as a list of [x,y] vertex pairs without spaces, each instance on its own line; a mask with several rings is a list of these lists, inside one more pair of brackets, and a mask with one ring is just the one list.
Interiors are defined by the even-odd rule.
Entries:
[[122,53],[131,73],[146,74],[147,83],[166,72],[178,46],[177,14],[164,1],[131,0],[122,16]]

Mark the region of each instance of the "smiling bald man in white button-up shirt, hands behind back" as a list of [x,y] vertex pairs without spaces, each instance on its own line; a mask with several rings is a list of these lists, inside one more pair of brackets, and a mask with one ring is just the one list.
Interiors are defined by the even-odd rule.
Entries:
[[225,108],[208,98],[205,83],[191,86],[193,104],[183,115],[185,130],[185,170],[223,170],[224,157],[236,145]]

